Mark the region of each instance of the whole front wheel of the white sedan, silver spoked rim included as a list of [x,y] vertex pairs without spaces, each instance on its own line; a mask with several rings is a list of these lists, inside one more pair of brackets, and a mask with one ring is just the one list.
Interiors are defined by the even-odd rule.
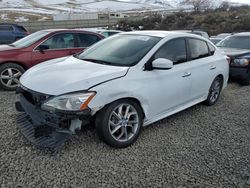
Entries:
[[96,116],[98,136],[116,148],[133,144],[140,134],[142,123],[143,112],[140,106],[129,99],[107,105]]

